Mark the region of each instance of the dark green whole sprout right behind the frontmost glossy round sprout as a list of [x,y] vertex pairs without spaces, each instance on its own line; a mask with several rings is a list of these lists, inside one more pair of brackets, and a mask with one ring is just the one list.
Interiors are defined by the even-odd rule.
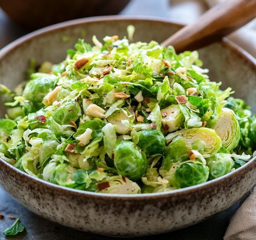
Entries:
[[165,138],[161,131],[147,129],[138,132],[138,146],[146,151],[147,156],[162,154],[165,147]]

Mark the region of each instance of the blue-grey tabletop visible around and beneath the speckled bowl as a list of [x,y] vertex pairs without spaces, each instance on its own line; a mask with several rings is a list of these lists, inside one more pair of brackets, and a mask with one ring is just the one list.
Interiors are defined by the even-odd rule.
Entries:
[[[157,8],[156,8],[157,5]],[[168,0],[132,0],[131,3],[121,12],[123,15],[149,15],[170,18],[168,11]],[[0,9],[0,48],[15,40],[16,38],[26,34],[17,24],[13,23]],[[230,222],[231,216],[240,206],[241,201],[237,202],[226,211],[212,216],[195,226],[187,227],[182,230],[166,233],[158,236],[149,236],[140,239],[156,239],[162,240],[221,240],[225,234],[226,228]],[[109,240],[110,237],[93,235],[78,230],[47,221],[27,210],[24,206],[16,202],[6,192],[0,188],[0,213],[5,216],[0,220],[0,240]],[[26,231],[15,237],[6,238],[2,232],[10,226],[14,220],[10,220],[8,216],[20,217],[25,224]],[[117,238],[115,238],[117,239]]]

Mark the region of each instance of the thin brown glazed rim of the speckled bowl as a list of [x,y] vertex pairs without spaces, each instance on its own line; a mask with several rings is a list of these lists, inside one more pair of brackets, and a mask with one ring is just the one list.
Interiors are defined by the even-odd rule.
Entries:
[[[105,22],[105,21],[118,21],[118,20],[131,20],[131,21],[155,21],[160,22],[162,24],[172,24],[177,27],[183,27],[184,24],[178,23],[176,21],[170,21],[164,18],[157,18],[157,17],[147,17],[147,16],[100,16],[100,17],[90,17],[90,18],[83,18],[83,19],[75,19],[71,21],[67,21],[64,23],[54,24],[49,27],[45,27],[43,29],[36,30],[30,34],[27,34],[21,38],[18,38],[14,42],[8,44],[6,47],[0,50],[0,59],[3,59],[6,54],[9,54],[15,51],[23,43],[29,43],[33,38],[41,37],[44,34],[48,34],[49,32],[53,32],[58,29],[65,29],[67,27],[77,26],[84,23],[90,22]],[[232,51],[236,52],[241,58],[244,58],[247,63],[251,65],[255,69],[256,72],[256,59],[252,57],[249,53],[247,53],[244,49],[237,46],[232,41],[228,40],[227,38],[223,38],[221,42],[226,48],[230,48]],[[111,194],[111,193],[99,193],[99,192],[88,192],[83,190],[77,190],[69,187],[59,186],[50,182],[46,182],[42,179],[35,178],[30,176],[28,173],[24,173],[19,169],[12,166],[10,163],[5,162],[2,158],[0,158],[0,165],[8,168],[9,171],[17,173],[20,177],[25,178],[27,181],[32,181],[34,184],[40,183],[45,185],[45,187],[52,188],[54,191],[60,191],[65,193],[70,193],[74,195],[84,195],[84,197],[94,197],[94,198],[101,198],[101,199],[115,199],[115,200],[149,200],[149,199],[156,199],[156,198],[166,198],[172,196],[178,196],[183,194],[189,194],[195,191],[200,191],[206,189],[208,187],[213,187],[214,185],[219,185],[225,182],[227,179],[236,178],[237,174],[245,174],[246,171],[253,167],[256,164],[256,156],[252,158],[248,163],[243,165],[242,167],[236,169],[235,171],[228,173],[220,178],[216,178],[210,180],[208,182],[204,182],[202,184],[198,184],[192,187],[186,187],[182,189],[173,190],[170,192],[156,192],[156,193],[142,193],[142,194]]]

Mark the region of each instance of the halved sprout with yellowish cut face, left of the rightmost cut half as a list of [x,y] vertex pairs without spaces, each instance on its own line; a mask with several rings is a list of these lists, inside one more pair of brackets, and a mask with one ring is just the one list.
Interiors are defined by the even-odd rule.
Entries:
[[176,136],[181,135],[187,146],[195,143],[198,139],[205,142],[205,149],[202,151],[202,155],[208,155],[211,157],[219,151],[222,147],[222,140],[216,134],[215,130],[209,128],[191,128],[191,129],[184,129],[179,130],[174,133],[168,134],[165,139],[166,142],[170,142]]

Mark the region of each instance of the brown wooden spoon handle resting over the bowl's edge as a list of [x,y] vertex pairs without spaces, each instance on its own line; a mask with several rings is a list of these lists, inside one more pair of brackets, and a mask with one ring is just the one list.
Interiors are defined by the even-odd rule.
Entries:
[[227,0],[208,10],[193,24],[167,38],[177,53],[195,50],[219,41],[256,17],[256,0]]

